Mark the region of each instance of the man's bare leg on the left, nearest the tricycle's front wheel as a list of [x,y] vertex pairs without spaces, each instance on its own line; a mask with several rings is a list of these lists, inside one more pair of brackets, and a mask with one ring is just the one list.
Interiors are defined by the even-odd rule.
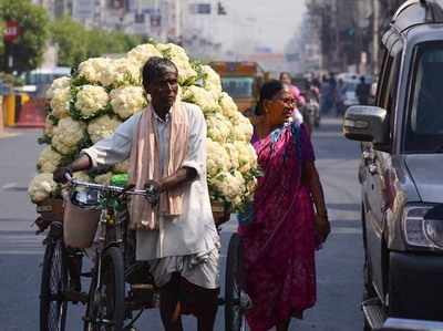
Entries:
[[183,331],[179,302],[181,277],[174,273],[159,290],[159,313],[165,331]]

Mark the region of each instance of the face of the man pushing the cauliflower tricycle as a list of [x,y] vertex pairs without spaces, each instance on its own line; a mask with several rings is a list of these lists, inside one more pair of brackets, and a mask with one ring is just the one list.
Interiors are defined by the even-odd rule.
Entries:
[[146,92],[151,94],[153,104],[173,106],[178,94],[177,72],[165,71],[158,77],[147,83]]

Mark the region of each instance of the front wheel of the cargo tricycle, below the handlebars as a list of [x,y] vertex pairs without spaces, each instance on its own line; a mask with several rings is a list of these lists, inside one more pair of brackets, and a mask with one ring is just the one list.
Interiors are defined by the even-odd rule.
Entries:
[[107,248],[96,266],[86,308],[85,331],[122,331],[125,317],[123,255]]

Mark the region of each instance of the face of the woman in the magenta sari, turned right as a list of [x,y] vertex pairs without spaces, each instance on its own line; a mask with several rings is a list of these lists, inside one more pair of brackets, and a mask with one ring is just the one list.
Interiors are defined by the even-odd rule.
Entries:
[[281,90],[272,100],[265,101],[266,115],[271,126],[278,126],[292,116],[296,100],[288,87]]

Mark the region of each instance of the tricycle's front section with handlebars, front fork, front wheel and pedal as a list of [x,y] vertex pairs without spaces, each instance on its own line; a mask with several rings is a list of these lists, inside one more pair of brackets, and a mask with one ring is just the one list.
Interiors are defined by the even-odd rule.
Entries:
[[[155,204],[157,194],[153,187],[145,190],[124,187],[126,180],[117,186],[68,179],[71,190],[83,187],[86,196],[95,192],[96,200],[92,204],[100,210],[84,330],[130,330],[144,309],[156,307],[157,296],[153,279],[146,277],[148,266],[135,261],[134,236],[127,227],[126,198],[141,195],[147,203]],[[76,198],[74,192],[71,199]],[[126,283],[131,286],[128,292]],[[135,318],[134,310],[140,310]],[[132,320],[125,325],[126,319]]]

